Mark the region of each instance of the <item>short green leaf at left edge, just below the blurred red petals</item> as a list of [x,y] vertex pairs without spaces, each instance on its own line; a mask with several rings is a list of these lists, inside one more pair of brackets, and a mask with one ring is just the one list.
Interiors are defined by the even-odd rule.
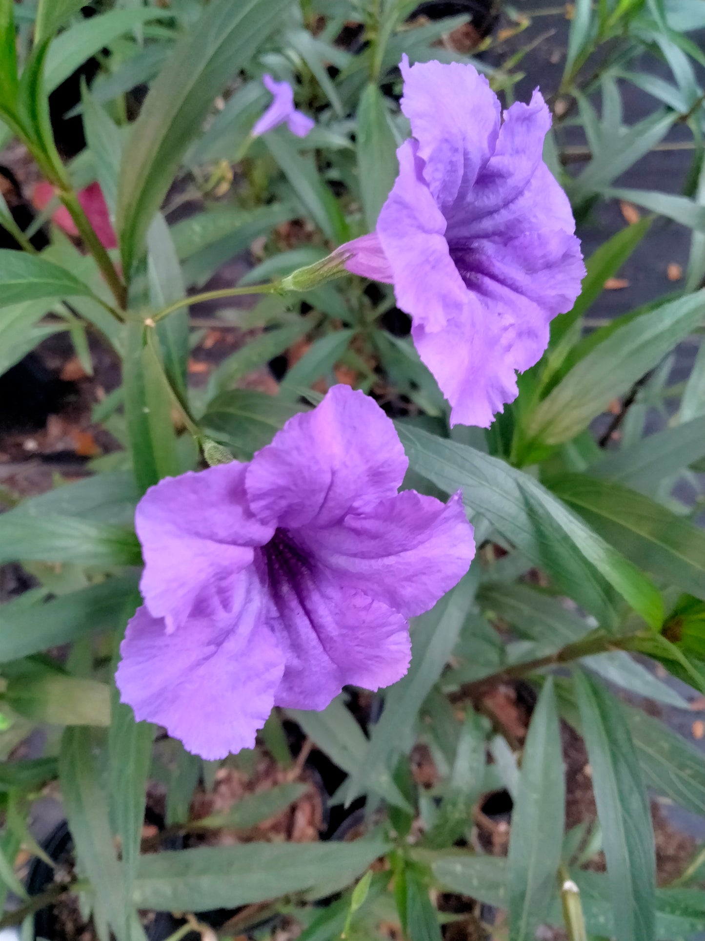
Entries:
[[83,281],[39,255],[0,248],[0,307],[45,297],[93,297]]

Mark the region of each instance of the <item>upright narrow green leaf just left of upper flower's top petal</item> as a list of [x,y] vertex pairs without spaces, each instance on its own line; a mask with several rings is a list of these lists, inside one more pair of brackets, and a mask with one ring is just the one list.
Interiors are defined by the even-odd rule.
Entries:
[[365,220],[368,230],[374,231],[377,216],[399,172],[397,141],[376,83],[369,83],[357,106],[356,143]]

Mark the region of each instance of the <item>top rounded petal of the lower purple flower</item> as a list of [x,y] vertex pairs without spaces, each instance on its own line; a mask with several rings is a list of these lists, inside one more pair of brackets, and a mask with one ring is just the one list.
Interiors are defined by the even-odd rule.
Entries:
[[254,456],[245,486],[263,523],[325,526],[394,495],[407,464],[382,408],[339,385],[321,405],[294,415]]

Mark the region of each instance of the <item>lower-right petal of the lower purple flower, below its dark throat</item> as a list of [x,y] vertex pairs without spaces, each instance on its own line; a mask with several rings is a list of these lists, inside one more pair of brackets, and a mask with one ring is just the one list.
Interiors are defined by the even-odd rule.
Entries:
[[377,690],[409,668],[405,618],[321,569],[277,579],[270,596],[268,623],[286,655],[275,705],[325,709],[348,683]]

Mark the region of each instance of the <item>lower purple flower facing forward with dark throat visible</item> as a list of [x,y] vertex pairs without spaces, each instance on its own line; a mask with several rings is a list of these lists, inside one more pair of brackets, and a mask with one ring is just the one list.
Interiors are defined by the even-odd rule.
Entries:
[[398,493],[394,425],[335,386],[249,464],[167,478],[137,507],[145,557],[117,683],[137,720],[203,758],[252,747],[274,705],[321,710],[406,673],[407,618],[467,571],[473,530]]

